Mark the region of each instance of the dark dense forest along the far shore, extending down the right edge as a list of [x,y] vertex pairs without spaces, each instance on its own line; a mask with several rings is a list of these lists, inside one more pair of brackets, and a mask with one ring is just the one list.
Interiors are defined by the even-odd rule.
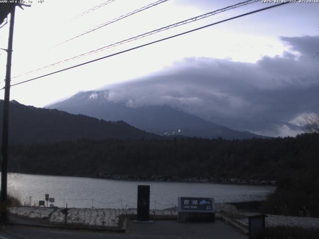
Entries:
[[319,133],[245,140],[83,139],[11,145],[9,171],[105,178],[162,175],[277,180],[277,191],[266,210],[319,216],[318,156]]

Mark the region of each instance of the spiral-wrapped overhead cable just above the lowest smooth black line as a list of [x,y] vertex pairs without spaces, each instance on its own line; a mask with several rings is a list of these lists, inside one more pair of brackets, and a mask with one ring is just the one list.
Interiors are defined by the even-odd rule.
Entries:
[[237,7],[241,7],[241,6],[244,6],[244,5],[247,5],[247,4],[250,4],[250,3],[254,3],[254,2],[257,2],[257,1],[259,1],[259,0],[247,0],[247,1],[244,1],[244,2],[239,2],[239,3],[234,4],[234,5],[230,5],[230,6],[218,9],[218,10],[214,10],[214,11],[211,11],[211,12],[199,15],[199,16],[195,16],[195,17],[183,20],[183,21],[179,21],[179,22],[176,22],[174,24],[170,24],[168,26],[164,26],[164,27],[158,28],[156,30],[152,30],[152,31],[149,31],[149,32],[146,32],[146,33],[143,33],[143,34],[140,34],[140,35],[137,35],[137,36],[134,36],[134,37],[131,37],[131,38],[128,38],[128,39],[125,39],[125,40],[122,40],[122,41],[119,41],[119,42],[116,42],[116,43],[113,43],[113,44],[110,44],[110,45],[107,45],[107,46],[104,46],[104,47],[101,47],[101,48],[98,48],[96,50],[89,51],[89,52],[86,52],[86,53],[82,53],[80,55],[77,55],[77,56],[74,56],[74,57],[71,57],[71,58],[68,58],[68,59],[65,59],[65,60],[50,64],[50,65],[47,65],[47,66],[44,66],[44,67],[40,67],[38,69],[29,71],[29,72],[14,76],[14,77],[12,77],[12,79],[20,77],[20,76],[23,76],[23,75],[26,75],[26,74],[29,74],[29,73],[32,73],[32,72],[36,72],[36,71],[42,70],[42,69],[47,68],[47,67],[52,67],[52,66],[55,66],[55,65],[58,65],[58,64],[61,64],[61,63],[65,63],[65,62],[68,62],[68,61],[71,61],[71,60],[75,60],[75,59],[78,59],[78,58],[81,58],[81,57],[85,57],[85,56],[88,56],[88,55],[91,55],[91,54],[94,54],[94,53],[97,53],[97,52],[100,52],[100,51],[103,51],[103,50],[106,50],[106,49],[110,49],[112,47],[116,47],[118,45],[125,44],[127,42],[131,42],[131,41],[134,41],[134,40],[138,40],[138,39],[147,37],[149,35],[158,33],[160,31],[168,30],[170,28],[174,28],[174,27],[177,27],[177,26],[180,26],[180,25],[184,25],[184,24],[193,22],[193,21],[197,21],[197,20],[206,18],[208,16],[212,16],[212,15],[215,15],[217,13],[221,13],[221,12],[224,12],[224,11],[227,11],[227,10],[230,10],[230,9],[234,9],[234,8],[237,8]]

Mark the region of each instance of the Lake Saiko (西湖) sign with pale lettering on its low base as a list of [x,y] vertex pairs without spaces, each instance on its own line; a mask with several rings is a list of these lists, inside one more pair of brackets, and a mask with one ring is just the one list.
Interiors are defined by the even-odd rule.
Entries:
[[178,197],[178,223],[214,221],[214,198]]

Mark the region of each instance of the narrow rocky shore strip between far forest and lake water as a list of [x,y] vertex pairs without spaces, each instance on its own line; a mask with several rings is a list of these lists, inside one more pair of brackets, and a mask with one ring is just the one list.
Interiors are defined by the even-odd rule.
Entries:
[[190,182],[190,183],[229,183],[229,184],[253,184],[276,185],[276,180],[250,180],[240,178],[203,178],[203,177],[178,177],[178,176],[141,176],[141,175],[110,175],[99,173],[98,178],[113,180],[156,181],[156,182]]

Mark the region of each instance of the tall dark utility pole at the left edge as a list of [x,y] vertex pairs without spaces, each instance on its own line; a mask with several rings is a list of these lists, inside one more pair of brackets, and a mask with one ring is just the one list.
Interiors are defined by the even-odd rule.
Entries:
[[10,27],[7,58],[6,58],[6,73],[4,86],[4,101],[3,101],[3,125],[2,125],[2,161],[1,161],[1,197],[0,197],[0,219],[1,224],[7,222],[7,162],[8,162],[8,122],[9,122],[9,101],[10,101],[10,79],[11,79],[11,58],[12,58],[12,42],[13,42],[13,25],[15,6],[10,11]]

